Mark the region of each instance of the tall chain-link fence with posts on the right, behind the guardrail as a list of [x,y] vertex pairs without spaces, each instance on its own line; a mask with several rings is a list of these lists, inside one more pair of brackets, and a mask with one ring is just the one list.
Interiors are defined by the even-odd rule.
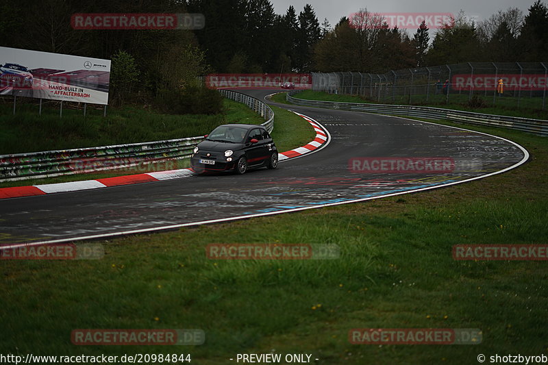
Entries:
[[545,109],[548,62],[468,62],[408,68],[377,75],[312,73],[312,90],[360,95],[377,103]]

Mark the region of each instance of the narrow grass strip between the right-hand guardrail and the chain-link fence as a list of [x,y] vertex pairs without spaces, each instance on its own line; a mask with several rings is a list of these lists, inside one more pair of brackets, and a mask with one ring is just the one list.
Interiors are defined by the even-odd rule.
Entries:
[[[275,101],[284,102],[282,99],[285,99],[285,93],[275,95]],[[365,97],[356,96],[356,95],[342,95],[342,94],[329,94],[327,92],[321,91],[312,91],[305,90],[300,92],[295,97],[299,99],[306,100],[321,100],[321,101],[336,101],[344,103],[377,103],[377,100],[367,99]],[[482,97],[483,98],[483,97]],[[419,96],[412,98],[412,105],[422,105],[429,106],[432,108],[443,108],[443,109],[453,109],[453,110],[465,110],[467,112],[476,112],[483,114],[495,114],[495,115],[504,115],[504,116],[521,116],[523,118],[534,118],[534,119],[544,119],[548,120],[548,109],[541,110],[538,107],[538,102],[533,102],[532,99],[521,99],[521,107],[518,108],[516,101],[512,99],[512,102],[506,103],[507,99],[502,97],[497,99],[497,104],[492,105],[493,98],[486,98],[487,102],[484,108],[471,108],[468,105],[468,95],[450,95],[449,103],[445,103],[444,95],[432,95],[429,99],[429,103],[426,103],[425,100],[420,100]],[[392,99],[390,99],[390,102]],[[395,104],[408,105],[408,97],[403,97],[395,99]],[[386,101],[381,100],[380,103],[386,103]],[[542,103],[540,103],[542,105]]]

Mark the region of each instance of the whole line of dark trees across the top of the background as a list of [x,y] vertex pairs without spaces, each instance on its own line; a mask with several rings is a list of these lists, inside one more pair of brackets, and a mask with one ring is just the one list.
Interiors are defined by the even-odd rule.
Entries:
[[[509,8],[479,23],[461,12],[453,25],[436,30],[432,42],[425,23],[410,36],[362,9],[332,27],[327,19],[320,23],[310,4],[275,14],[269,0],[7,1],[0,11],[9,14],[0,19],[2,46],[112,59],[114,101],[161,104],[169,99],[165,103],[179,105],[179,112],[180,105],[186,110],[195,105],[192,95],[208,99],[197,77],[212,72],[385,73],[458,62],[548,60],[548,8],[540,0],[527,14]],[[203,14],[206,27],[71,27],[75,13],[186,12]],[[219,100],[210,99],[216,106],[202,111],[219,108]]]

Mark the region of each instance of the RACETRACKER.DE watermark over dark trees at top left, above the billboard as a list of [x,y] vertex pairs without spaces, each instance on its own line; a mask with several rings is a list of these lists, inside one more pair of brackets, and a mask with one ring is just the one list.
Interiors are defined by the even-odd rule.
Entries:
[[179,14],[112,14],[80,13],[71,16],[73,29],[203,29],[206,18],[198,13]]

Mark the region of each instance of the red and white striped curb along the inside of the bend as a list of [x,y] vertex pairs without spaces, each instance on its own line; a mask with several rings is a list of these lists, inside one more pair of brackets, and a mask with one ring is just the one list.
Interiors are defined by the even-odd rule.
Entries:
[[[279,160],[288,160],[297,158],[306,153],[317,151],[321,147],[325,147],[329,142],[329,133],[314,119],[306,115],[296,113],[306,119],[316,131],[316,138],[306,146],[292,149],[279,153]],[[14,186],[13,188],[0,188],[0,199],[32,197],[36,195],[53,194],[55,192],[73,192],[78,190],[90,190],[97,188],[108,188],[110,186],[122,186],[131,184],[140,184],[151,181],[162,181],[169,179],[180,179],[182,177],[190,177],[195,175],[189,168],[171,171],[158,171],[154,173],[142,173],[137,175],[126,175],[116,177],[105,177],[104,179],[86,180],[86,181],[71,181],[59,184],[42,184],[34,186]]]

